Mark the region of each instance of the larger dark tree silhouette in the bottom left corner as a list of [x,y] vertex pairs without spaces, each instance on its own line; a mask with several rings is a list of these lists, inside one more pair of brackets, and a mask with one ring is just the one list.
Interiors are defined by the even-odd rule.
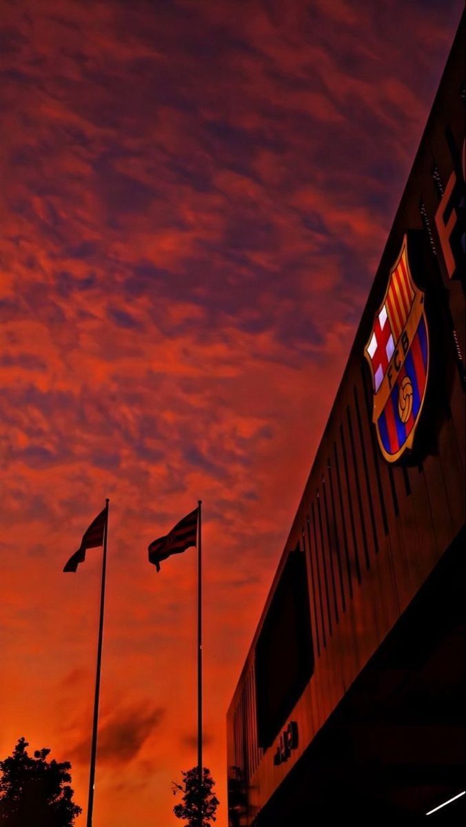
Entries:
[[71,764],[47,761],[50,749],[34,758],[20,738],[12,755],[0,761],[0,825],[2,827],[73,827],[81,808],[72,801]]

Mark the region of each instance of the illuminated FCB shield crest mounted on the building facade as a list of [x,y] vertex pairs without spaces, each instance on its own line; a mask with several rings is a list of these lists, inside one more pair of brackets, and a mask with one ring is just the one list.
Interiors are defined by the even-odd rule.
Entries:
[[383,456],[394,462],[412,447],[429,372],[424,293],[412,280],[406,236],[364,355],[372,372],[377,439]]

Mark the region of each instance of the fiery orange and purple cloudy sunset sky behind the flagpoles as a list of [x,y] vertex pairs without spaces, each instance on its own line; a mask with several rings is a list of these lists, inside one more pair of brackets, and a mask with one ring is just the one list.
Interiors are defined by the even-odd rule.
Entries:
[[459,22],[458,0],[1,0],[0,758],[72,762],[85,823],[174,827],[226,711]]

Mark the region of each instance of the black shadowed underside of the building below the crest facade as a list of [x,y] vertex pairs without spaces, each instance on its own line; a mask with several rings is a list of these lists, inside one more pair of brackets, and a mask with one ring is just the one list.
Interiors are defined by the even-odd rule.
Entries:
[[466,796],[464,530],[254,827],[460,825]]

